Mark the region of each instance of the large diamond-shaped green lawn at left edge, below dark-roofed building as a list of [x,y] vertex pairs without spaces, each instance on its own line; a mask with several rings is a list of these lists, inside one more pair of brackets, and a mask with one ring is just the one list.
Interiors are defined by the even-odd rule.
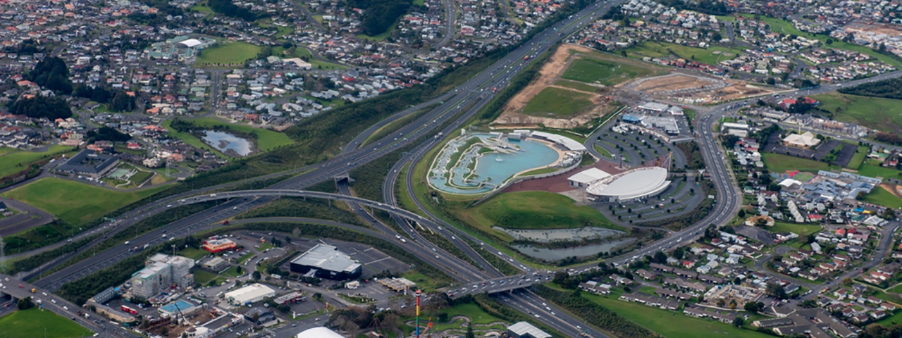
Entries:
[[169,187],[116,191],[63,178],[41,178],[3,194],[35,206],[71,225],[85,224]]

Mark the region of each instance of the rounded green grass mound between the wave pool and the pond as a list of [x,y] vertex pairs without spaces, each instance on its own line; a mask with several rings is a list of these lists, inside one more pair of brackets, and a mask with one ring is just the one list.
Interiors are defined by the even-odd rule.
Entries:
[[591,206],[576,206],[569,197],[544,191],[523,191],[494,196],[476,206],[486,228],[563,229],[586,225],[620,228]]

